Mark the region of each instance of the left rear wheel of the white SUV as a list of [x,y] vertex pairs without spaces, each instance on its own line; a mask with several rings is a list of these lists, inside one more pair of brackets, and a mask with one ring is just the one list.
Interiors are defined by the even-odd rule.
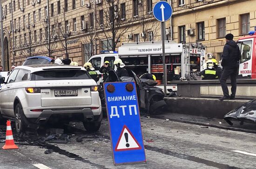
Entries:
[[25,129],[24,114],[20,104],[15,107],[15,129],[18,133],[21,133]]

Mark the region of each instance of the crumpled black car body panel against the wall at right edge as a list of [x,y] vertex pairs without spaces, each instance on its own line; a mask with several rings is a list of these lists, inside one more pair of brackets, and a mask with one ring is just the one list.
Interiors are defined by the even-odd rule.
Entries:
[[233,125],[231,121],[238,121],[241,125],[246,123],[256,123],[256,99],[251,100],[242,106],[230,111],[224,116],[224,120]]

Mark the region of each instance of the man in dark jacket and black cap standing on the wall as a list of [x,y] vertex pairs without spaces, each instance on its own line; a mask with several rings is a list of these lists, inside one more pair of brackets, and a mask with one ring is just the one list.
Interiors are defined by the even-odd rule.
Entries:
[[[222,85],[223,97],[220,100],[235,99],[236,96],[236,74],[239,66],[239,60],[241,58],[240,49],[236,42],[233,40],[234,36],[229,33],[225,36],[226,45],[223,48],[222,54],[222,67],[223,72],[220,78]],[[227,79],[231,80],[231,95],[229,96],[229,89],[227,86]]]

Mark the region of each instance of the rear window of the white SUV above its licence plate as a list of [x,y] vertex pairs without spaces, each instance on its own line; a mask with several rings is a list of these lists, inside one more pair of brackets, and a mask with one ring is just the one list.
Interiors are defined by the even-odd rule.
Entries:
[[33,75],[34,80],[90,79],[88,72],[82,70],[37,71]]

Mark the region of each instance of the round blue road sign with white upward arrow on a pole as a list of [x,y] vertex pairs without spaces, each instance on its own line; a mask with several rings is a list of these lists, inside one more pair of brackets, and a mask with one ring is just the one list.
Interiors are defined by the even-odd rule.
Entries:
[[172,16],[172,7],[166,1],[159,1],[155,4],[153,8],[153,14],[156,20],[160,22],[165,22],[169,20]]

